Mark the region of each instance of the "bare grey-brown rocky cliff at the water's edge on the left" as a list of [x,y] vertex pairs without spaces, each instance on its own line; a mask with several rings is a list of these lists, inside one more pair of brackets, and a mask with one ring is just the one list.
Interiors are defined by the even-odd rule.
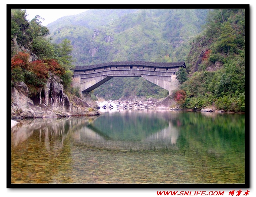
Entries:
[[61,79],[52,73],[39,90],[29,90],[24,82],[13,83],[11,87],[12,119],[96,116],[97,108],[89,95],[81,98],[66,95]]

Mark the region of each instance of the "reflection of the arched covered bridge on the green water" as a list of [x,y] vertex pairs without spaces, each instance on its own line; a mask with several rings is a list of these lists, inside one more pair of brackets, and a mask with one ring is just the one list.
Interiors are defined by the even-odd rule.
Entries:
[[93,123],[75,131],[75,142],[105,149],[171,149],[179,132],[170,121],[177,117],[176,113],[169,114],[168,117],[152,110],[104,113]]

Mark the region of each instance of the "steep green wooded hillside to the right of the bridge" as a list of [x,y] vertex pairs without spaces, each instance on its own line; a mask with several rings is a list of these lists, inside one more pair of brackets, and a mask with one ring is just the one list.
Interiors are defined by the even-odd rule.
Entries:
[[191,43],[186,58],[188,77],[181,89],[187,98],[182,107],[213,105],[221,110],[244,111],[244,10],[212,10],[205,27]]

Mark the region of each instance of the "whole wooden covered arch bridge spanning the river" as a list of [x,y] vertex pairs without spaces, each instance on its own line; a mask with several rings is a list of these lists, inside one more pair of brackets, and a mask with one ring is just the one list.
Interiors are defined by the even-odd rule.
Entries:
[[90,92],[113,77],[143,77],[171,92],[179,86],[176,72],[185,62],[113,61],[104,64],[76,66],[73,83],[81,92]]

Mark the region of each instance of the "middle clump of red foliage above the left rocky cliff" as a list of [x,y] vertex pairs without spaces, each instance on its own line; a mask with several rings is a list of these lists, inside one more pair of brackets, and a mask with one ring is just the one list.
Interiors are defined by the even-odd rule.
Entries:
[[30,70],[40,79],[48,78],[49,66],[41,60],[32,61]]

